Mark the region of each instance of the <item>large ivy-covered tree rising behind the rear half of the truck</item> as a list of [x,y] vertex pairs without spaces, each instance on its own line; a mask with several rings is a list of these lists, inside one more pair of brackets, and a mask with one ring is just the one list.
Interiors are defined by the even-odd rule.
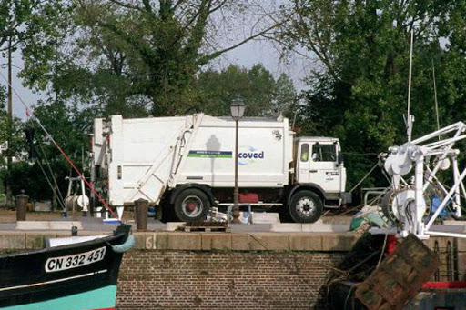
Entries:
[[[216,47],[217,25],[251,5],[233,0],[75,0],[71,52],[48,63],[62,99],[99,106],[106,115],[175,115],[197,105],[200,69],[276,26],[261,18],[257,31]],[[253,3],[253,2],[252,2]],[[263,22],[263,21],[267,22]],[[32,80],[37,85],[39,80]]]

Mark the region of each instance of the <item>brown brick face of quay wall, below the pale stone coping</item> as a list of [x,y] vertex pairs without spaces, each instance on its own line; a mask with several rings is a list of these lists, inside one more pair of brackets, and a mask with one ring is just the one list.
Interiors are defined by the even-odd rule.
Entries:
[[322,285],[344,252],[134,250],[117,309],[325,309]]

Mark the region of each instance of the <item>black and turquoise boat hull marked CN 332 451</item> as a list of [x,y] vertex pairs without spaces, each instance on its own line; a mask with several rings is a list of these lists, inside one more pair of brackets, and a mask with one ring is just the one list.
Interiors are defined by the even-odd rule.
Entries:
[[74,245],[0,256],[0,309],[114,309],[128,226]]

